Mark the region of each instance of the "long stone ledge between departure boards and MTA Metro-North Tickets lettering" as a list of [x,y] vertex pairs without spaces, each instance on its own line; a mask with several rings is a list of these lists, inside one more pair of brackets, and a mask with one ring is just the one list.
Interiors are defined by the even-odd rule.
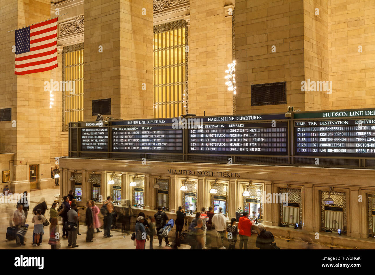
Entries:
[[[77,167],[82,164],[85,169],[133,171],[138,173],[168,174],[168,169],[176,170],[204,170],[228,173],[240,173],[240,178],[258,181],[272,181],[273,183],[291,184],[324,184],[325,186],[353,186],[375,188],[373,169],[343,169],[303,166],[270,166],[270,165],[241,165],[241,164],[203,164],[190,162],[158,162],[109,160],[109,159],[75,159],[60,158],[60,167]],[[186,175],[177,174],[180,177]],[[195,175],[196,176],[196,175]],[[189,177],[192,177],[191,175]],[[217,176],[216,176],[217,177]],[[215,178],[215,177],[213,177]]]

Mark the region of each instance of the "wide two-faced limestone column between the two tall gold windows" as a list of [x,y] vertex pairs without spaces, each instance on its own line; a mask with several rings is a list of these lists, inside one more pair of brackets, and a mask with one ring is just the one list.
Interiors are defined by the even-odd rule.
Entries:
[[84,119],[92,100],[111,98],[115,118],[153,117],[153,3],[84,2]]

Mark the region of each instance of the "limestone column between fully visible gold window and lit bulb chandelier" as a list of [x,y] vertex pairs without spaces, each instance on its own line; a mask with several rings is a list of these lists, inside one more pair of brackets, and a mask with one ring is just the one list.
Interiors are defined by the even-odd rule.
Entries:
[[232,16],[224,1],[190,0],[189,113],[233,114],[225,70],[232,59]]

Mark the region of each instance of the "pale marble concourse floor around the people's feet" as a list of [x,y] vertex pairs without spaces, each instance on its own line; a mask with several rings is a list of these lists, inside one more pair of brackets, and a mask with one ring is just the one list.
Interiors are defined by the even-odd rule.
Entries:
[[[12,223],[12,215],[16,210],[16,203],[0,203],[0,249],[51,249],[51,246],[48,244],[49,239],[49,228],[44,227],[45,234],[43,235],[43,242],[42,245],[36,247],[31,245],[32,243],[32,232],[34,229],[34,224],[31,223],[31,219],[33,214],[31,213],[32,209],[37,205],[39,202],[45,200],[48,206],[48,209],[51,207],[52,202],[56,199],[54,195],[60,192],[59,186],[50,189],[43,189],[43,190],[35,190],[30,192],[30,210],[28,211],[28,216],[26,223],[29,224],[28,231],[26,233],[26,240],[25,246],[17,245],[16,242],[13,241],[6,241],[6,229]],[[47,211],[48,212],[48,211]],[[47,213],[46,212],[46,213]],[[46,214],[47,218],[49,215]],[[60,233],[62,232],[62,224],[59,221]],[[121,233],[121,230],[115,229],[111,230],[112,238],[103,238],[103,233],[95,233],[93,242],[86,242],[86,226],[80,224],[80,233],[77,237],[77,245],[76,248],[68,247],[68,239],[61,239],[61,249],[135,249],[134,242],[130,239],[130,235],[124,235]],[[101,231],[103,231],[101,229]],[[165,247],[165,242],[163,241],[162,247],[159,247],[157,238],[153,239],[153,247],[154,249],[170,249]],[[150,242],[146,242],[146,249],[150,248]],[[178,249],[190,249],[189,245],[181,244]]]

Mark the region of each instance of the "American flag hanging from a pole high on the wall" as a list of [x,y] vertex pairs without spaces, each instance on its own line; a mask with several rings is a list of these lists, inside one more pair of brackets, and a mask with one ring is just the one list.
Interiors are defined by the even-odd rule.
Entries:
[[15,31],[14,74],[31,74],[57,67],[57,17]]

